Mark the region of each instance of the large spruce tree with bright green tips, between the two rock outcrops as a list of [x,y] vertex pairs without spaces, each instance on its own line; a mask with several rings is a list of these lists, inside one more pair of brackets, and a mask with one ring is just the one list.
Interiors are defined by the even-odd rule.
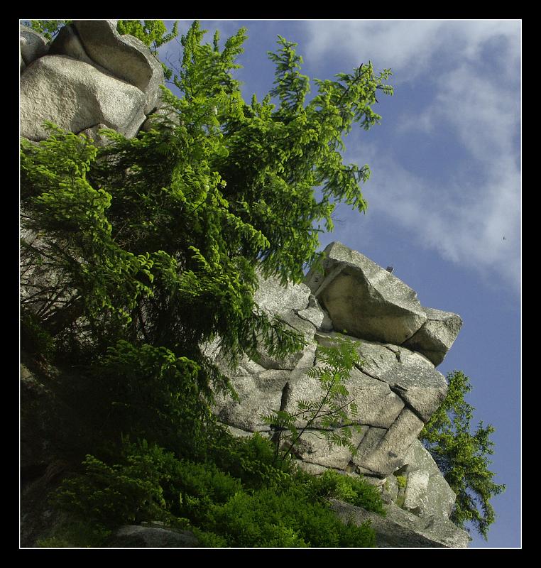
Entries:
[[260,342],[271,356],[302,346],[255,304],[256,268],[299,282],[303,263],[317,258],[320,224],[332,229],[334,202],[366,209],[359,183],[368,167],[344,165],[341,136],[355,122],[376,124],[376,91],[392,92],[390,72],[368,64],[315,80],[318,94],[305,104],[302,60],[280,38],[270,55],[275,88],[246,104],[231,75],[245,30],[223,50],[217,34],[212,45],[203,36],[197,22],[182,36],[180,97],[163,87],[170,114],[150,132],[106,131],[111,143],[96,148],[50,125],[48,140],[21,141],[23,312],[38,315],[60,361],[87,364],[111,384],[119,375],[108,369],[122,361],[125,408],[146,401],[131,382],[139,371],[126,367],[139,357],[167,365],[148,381],[178,416],[185,398],[170,395],[175,377],[195,383],[201,417],[209,387],[228,388],[207,342],[219,337],[231,364]]

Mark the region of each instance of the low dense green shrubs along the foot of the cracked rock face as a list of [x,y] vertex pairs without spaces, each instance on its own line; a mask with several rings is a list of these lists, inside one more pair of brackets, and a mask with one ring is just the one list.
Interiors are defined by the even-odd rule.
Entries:
[[209,547],[375,545],[369,523],[344,525],[327,506],[334,497],[383,513],[378,491],[366,481],[332,471],[316,478],[293,469],[291,461],[276,464],[270,442],[258,435],[227,445],[238,477],[146,442],[125,443],[121,463],[87,456],[84,471],[65,479],[53,499],[72,521],[102,535],[102,544],[118,525],[158,520],[192,530]]

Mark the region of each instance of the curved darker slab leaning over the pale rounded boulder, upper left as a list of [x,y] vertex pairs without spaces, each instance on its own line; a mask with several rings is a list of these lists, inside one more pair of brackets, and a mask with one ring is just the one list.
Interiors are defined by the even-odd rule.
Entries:
[[[156,108],[163,84],[163,67],[146,45],[132,35],[120,35],[116,20],[76,20],[84,50],[115,77],[145,93],[144,113]],[[142,121],[141,121],[142,124]]]

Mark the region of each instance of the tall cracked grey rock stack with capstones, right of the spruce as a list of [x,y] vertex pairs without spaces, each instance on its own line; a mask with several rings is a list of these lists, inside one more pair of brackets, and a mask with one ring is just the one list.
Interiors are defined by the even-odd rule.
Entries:
[[[447,393],[447,381],[435,364],[457,337],[460,317],[422,307],[405,283],[337,242],[325,249],[322,271],[310,271],[304,284],[283,288],[278,280],[261,279],[256,301],[302,333],[306,346],[283,361],[261,349],[257,360],[245,356],[236,371],[227,367],[216,346],[209,346],[208,354],[239,394],[239,402],[218,397],[219,419],[234,435],[272,436],[261,416],[278,409],[293,412],[299,400],[320,398],[317,378],[308,374],[319,364],[317,350],[349,337],[361,356],[346,383],[361,425],[352,440],[357,452],[329,449],[316,421],[300,439],[298,463],[312,474],[329,468],[362,474],[379,486],[390,510],[386,522],[373,523],[381,546],[396,545],[396,536],[390,536],[394,532],[403,535],[403,547],[408,542],[465,547],[466,532],[449,520],[455,495],[417,439]],[[335,508],[344,513],[343,506]]]

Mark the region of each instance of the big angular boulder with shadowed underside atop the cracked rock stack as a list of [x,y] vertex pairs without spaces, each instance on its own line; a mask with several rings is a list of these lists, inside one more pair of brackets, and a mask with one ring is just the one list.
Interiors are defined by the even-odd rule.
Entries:
[[324,278],[312,270],[305,283],[334,329],[399,345],[425,323],[417,294],[401,280],[341,243],[329,244],[325,252]]

